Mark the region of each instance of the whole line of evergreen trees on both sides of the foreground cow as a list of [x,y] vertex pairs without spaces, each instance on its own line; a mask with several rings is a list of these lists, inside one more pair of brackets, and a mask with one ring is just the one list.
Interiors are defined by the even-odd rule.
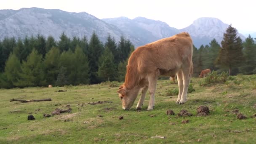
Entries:
[[[209,45],[193,50],[193,75],[203,69],[256,74],[256,39],[243,42],[231,25],[221,45],[213,39]],[[134,45],[123,36],[116,42],[110,35],[105,43],[93,32],[87,37],[70,39],[63,32],[60,40],[42,35],[24,40],[5,37],[0,41],[0,88],[96,84],[123,81],[128,57]]]

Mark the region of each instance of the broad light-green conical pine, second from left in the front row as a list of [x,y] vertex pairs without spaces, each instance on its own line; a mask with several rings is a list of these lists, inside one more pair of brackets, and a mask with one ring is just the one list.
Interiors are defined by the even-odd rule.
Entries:
[[46,85],[43,75],[42,55],[35,49],[27,57],[27,61],[21,64],[20,79],[13,83],[17,87]]

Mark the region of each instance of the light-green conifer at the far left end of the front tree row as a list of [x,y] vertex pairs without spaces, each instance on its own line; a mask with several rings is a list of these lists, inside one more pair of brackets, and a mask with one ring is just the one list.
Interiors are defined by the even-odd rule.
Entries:
[[19,79],[19,73],[21,72],[21,63],[17,56],[13,53],[10,54],[5,64],[5,76],[10,82],[11,87],[14,83],[17,83]]

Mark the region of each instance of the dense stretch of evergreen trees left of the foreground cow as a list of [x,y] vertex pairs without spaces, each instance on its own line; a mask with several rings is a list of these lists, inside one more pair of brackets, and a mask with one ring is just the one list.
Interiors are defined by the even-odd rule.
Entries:
[[59,41],[42,35],[24,40],[6,37],[0,41],[0,88],[123,81],[133,50],[123,36],[116,42],[109,35],[102,43],[95,32],[90,40],[70,39],[64,32]]

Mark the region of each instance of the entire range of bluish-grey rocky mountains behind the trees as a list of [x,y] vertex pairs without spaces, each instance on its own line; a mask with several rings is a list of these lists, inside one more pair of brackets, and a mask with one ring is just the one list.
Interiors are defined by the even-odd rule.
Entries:
[[[228,24],[216,18],[200,18],[184,29],[170,27],[162,21],[137,17],[98,19],[86,12],[71,13],[59,9],[21,8],[20,10],[0,10],[0,40],[4,37],[21,37],[41,34],[59,40],[62,32],[68,37],[91,37],[96,32],[102,42],[110,34],[116,41],[120,36],[131,40],[137,47],[170,37],[179,32],[189,32],[197,48],[208,44],[213,38],[219,43]],[[245,37],[240,34],[240,37]]]

